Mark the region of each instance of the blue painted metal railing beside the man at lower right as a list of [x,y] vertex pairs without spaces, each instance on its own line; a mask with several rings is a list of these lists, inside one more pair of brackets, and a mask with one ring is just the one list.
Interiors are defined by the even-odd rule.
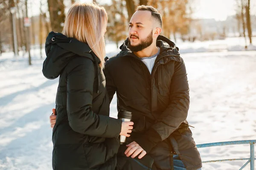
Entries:
[[256,160],[254,157],[254,144],[256,140],[244,140],[244,141],[229,141],[229,142],[215,142],[215,143],[207,143],[207,144],[197,144],[198,148],[202,147],[213,147],[213,146],[224,146],[224,145],[233,145],[233,144],[250,144],[250,158],[241,158],[241,159],[220,159],[213,161],[203,161],[202,163],[208,162],[220,162],[220,161],[243,161],[248,160],[239,170],[242,170],[247,164],[250,163],[250,170],[254,170],[254,161]]

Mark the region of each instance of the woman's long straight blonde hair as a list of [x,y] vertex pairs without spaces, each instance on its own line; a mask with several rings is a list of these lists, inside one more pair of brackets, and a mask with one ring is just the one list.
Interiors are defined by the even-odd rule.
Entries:
[[104,34],[108,23],[105,8],[94,3],[74,3],[69,9],[62,34],[87,43],[104,67]]

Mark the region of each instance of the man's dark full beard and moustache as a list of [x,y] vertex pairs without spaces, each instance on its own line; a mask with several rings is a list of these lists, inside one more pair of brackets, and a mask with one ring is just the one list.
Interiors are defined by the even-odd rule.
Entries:
[[[144,40],[141,40],[141,42],[138,45],[132,46],[131,45],[131,41],[128,38],[128,48],[133,51],[133,52],[138,52],[138,51],[142,51],[143,49],[147,48],[148,46],[150,46],[153,42],[153,29],[151,31],[151,33],[148,35],[148,37],[146,37]],[[134,35],[131,35],[131,37],[137,37]]]

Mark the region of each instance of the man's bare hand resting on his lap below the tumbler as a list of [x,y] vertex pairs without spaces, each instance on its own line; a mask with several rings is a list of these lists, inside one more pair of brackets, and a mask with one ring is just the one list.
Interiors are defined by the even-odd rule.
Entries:
[[140,147],[139,144],[137,144],[137,142],[131,142],[130,144],[127,144],[126,145],[128,148],[125,150],[125,155],[127,157],[131,156],[131,158],[135,158],[137,155],[139,155],[140,153],[140,156],[138,156],[139,159],[141,159],[143,156],[145,156],[147,153],[146,151]]

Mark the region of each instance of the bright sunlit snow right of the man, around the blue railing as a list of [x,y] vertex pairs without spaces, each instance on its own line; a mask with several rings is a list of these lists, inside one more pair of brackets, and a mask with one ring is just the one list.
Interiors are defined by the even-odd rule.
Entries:
[[[256,139],[256,51],[185,54],[195,142]],[[249,158],[250,146],[202,148],[203,161]],[[204,164],[206,170],[239,170],[246,161]],[[247,165],[247,170],[249,170]]]

